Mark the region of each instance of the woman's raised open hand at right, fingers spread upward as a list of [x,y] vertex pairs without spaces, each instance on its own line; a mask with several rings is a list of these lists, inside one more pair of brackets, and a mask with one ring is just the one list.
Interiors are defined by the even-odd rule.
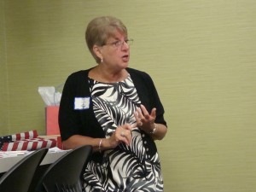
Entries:
[[137,121],[137,127],[148,133],[153,131],[155,127],[155,111],[156,108],[153,108],[151,113],[148,113],[147,109],[143,105],[141,105],[140,108],[137,108],[137,110],[134,112],[134,117]]

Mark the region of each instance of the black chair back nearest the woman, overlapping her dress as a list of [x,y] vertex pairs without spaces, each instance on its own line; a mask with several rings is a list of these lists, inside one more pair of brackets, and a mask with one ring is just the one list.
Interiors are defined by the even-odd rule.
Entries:
[[68,151],[51,164],[39,179],[37,192],[81,192],[81,174],[92,152],[90,145]]

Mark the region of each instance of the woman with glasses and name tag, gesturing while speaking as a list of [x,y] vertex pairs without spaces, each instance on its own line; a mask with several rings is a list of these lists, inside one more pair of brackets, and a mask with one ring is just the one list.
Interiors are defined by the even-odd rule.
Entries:
[[63,147],[93,147],[84,191],[163,191],[154,140],[166,135],[164,108],[149,75],[128,67],[125,25],[98,17],[85,39],[97,65],[67,78],[59,112]]

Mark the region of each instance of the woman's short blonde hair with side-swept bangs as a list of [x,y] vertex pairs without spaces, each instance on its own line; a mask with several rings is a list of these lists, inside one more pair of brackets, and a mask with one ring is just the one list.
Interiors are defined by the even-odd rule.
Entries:
[[85,31],[85,40],[91,55],[95,58],[97,63],[100,63],[101,59],[94,53],[93,46],[106,44],[107,39],[113,36],[117,29],[124,32],[127,36],[126,26],[121,20],[113,16],[96,17],[88,24]]

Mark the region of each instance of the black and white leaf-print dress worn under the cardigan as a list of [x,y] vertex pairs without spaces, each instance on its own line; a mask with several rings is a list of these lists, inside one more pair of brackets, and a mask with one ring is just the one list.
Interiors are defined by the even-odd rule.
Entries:
[[[106,138],[119,125],[136,123],[133,112],[141,102],[130,76],[111,84],[89,79],[89,84],[93,110]],[[84,191],[163,191],[158,153],[149,153],[148,143],[154,141],[137,128],[131,134],[131,146],[120,143],[102,152],[102,163],[88,163]]]

